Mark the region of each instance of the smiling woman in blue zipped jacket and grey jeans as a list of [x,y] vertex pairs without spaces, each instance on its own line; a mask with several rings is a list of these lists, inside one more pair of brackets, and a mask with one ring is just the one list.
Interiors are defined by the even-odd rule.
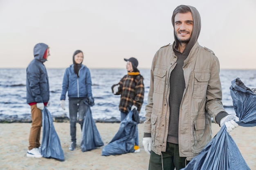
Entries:
[[65,70],[61,92],[61,108],[65,110],[66,93],[69,98],[70,112],[70,135],[71,145],[69,150],[76,148],[76,122],[78,113],[78,123],[83,129],[83,120],[89,106],[94,105],[92,97],[92,80],[90,70],[82,64],[83,52],[76,50],[73,54],[73,64]]

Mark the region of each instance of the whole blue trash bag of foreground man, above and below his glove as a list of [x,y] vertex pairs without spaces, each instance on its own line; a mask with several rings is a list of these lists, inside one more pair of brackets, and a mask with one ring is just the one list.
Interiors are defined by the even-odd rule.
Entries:
[[[256,94],[240,78],[230,89],[237,122],[240,126],[256,126]],[[182,170],[250,170],[233,138],[222,126],[215,137]]]

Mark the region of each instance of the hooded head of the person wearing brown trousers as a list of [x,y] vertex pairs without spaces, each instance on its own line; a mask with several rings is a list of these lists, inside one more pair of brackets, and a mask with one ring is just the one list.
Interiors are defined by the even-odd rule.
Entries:
[[44,43],[38,43],[34,47],[34,57],[42,63],[47,59],[47,49],[48,46]]

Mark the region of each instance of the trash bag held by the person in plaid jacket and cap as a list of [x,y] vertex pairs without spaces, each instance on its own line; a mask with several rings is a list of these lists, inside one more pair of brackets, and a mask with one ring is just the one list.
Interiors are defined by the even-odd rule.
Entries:
[[121,155],[135,151],[134,144],[137,136],[137,122],[132,120],[132,113],[133,111],[130,111],[121,122],[119,130],[113,139],[102,149],[101,155]]

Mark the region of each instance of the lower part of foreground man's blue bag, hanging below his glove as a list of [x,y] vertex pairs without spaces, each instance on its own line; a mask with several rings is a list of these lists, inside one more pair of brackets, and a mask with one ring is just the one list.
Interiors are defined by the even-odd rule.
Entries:
[[234,139],[222,126],[215,137],[182,170],[250,170]]

